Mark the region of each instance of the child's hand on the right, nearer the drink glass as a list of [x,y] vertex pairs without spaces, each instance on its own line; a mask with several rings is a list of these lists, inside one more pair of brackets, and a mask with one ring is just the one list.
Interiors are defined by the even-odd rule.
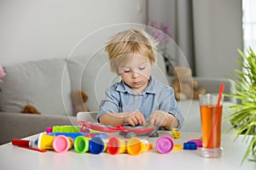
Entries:
[[150,116],[150,124],[157,126],[166,126],[168,113],[165,111],[154,111]]

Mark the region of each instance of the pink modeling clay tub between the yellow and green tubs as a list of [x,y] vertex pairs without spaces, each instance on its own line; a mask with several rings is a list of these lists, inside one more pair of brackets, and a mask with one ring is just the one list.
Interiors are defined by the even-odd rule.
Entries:
[[52,145],[56,152],[62,153],[73,148],[73,139],[64,135],[59,135],[55,137]]

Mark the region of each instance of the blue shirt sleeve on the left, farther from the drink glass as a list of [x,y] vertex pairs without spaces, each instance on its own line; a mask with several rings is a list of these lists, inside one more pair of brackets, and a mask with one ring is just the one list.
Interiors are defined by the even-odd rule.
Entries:
[[115,90],[115,86],[111,86],[105,91],[104,99],[100,103],[100,111],[96,116],[99,122],[99,117],[105,113],[119,112],[119,92]]

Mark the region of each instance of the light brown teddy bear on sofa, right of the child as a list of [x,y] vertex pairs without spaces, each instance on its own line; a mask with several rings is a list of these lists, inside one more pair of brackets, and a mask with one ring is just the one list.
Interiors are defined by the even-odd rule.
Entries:
[[175,81],[172,83],[172,88],[176,99],[198,99],[199,94],[206,94],[206,89],[198,88],[198,82],[192,79],[189,68],[175,67],[173,74]]

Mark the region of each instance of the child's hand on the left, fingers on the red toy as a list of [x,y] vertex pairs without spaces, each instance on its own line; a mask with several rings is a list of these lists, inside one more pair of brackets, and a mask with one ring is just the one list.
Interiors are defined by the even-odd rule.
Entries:
[[136,125],[146,125],[146,120],[140,111],[128,112],[125,116],[125,122],[128,122],[132,127]]

